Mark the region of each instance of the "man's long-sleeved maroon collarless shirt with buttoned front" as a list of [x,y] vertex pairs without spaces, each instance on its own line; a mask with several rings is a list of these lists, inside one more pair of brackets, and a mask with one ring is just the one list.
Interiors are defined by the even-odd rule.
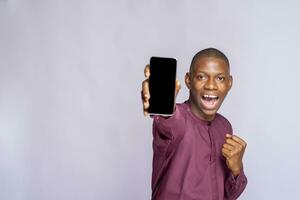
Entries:
[[232,127],[220,114],[197,118],[188,102],[170,118],[154,117],[152,200],[232,200],[245,189],[243,170],[234,178],[222,156]]

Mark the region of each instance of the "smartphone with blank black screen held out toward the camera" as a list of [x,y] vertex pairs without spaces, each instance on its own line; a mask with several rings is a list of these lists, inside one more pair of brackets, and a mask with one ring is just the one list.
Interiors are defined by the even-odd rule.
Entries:
[[176,58],[150,58],[150,115],[172,116],[174,113],[176,71]]

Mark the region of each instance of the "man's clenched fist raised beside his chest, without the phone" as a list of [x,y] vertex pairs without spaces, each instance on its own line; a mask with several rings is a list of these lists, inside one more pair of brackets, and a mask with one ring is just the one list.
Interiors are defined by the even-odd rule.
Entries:
[[222,154],[226,158],[226,164],[232,174],[236,177],[243,168],[243,155],[246,149],[246,142],[236,135],[226,134]]

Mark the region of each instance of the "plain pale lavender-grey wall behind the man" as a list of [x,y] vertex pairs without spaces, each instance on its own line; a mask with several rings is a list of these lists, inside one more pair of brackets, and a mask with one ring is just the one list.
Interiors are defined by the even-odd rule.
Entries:
[[242,200],[300,198],[299,1],[0,0],[0,199],[150,199],[150,56],[231,61]]

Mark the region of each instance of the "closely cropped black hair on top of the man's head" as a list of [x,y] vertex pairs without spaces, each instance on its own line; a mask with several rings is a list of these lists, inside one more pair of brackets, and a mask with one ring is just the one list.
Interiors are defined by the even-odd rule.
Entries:
[[220,50],[216,49],[216,48],[207,48],[207,49],[203,49],[201,51],[199,51],[198,53],[196,53],[192,59],[191,62],[191,66],[190,66],[190,74],[192,74],[193,70],[194,70],[194,66],[196,61],[199,58],[203,58],[203,57],[213,57],[213,58],[219,58],[225,61],[225,63],[228,65],[228,67],[230,66],[229,64],[229,60],[226,57],[226,55],[221,52]]

